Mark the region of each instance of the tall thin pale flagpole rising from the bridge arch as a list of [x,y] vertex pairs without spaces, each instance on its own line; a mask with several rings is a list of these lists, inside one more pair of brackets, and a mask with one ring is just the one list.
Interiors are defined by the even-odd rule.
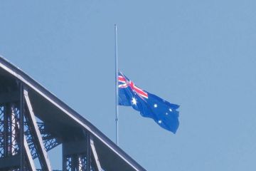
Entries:
[[115,122],[116,145],[118,145],[118,67],[117,67],[117,24],[114,24],[114,50],[115,50]]

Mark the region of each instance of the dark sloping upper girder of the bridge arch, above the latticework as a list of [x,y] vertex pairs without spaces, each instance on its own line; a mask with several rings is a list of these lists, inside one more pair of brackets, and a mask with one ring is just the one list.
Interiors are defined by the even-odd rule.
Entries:
[[[26,75],[26,73],[23,73],[23,71],[0,56],[0,104],[3,104],[5,101],[8,103],[17,102],[16,92],[19,92],[16,88],[17,83],[23,83],[23,85],[26,86],[29,98],[31,98],[33,112],[46,126],[43,129],[39,128],[43,139],[43,146],[46,150],[55,147],[55,141],[57,143],[63,143],[85,138],[85,135],[83,135],[83,131],[85,131],[90,133],[93,137],[97,156],[99,157],[98,160],[100,160],[100,165],[105,170],[144,170],[142,166],[129,157],[122,149],[114,145],[114,142],[98,130],[95,125],[92,125],[92,123],[76,113],[75,110],[55,97],[55,95],[46,90],[46,88],[43,88],[43,86]],[[4,93],[9,93],[9,95],[4,95]],[[41,127],[40,123],[37,125]],[[25,131],[26,130],[28,130],[25,134],[29,142],[29,136],[33,137],[33,133],[31,133],[29,128],[25,128]],[[54,140],[54,138],[56,139]],[[2,142],[0,141],[0,143]],[[30,143],[28,143],[28,145],[30,145]],[[4,147],[7,147],[7,145],[4,145]],[[36,147],[33,147],[33,145],[29,147],[35,154],[38,153]],[[37,156],[33,155],[33,157]],[[63,167],[63,169],[64,168],[65,167]]]

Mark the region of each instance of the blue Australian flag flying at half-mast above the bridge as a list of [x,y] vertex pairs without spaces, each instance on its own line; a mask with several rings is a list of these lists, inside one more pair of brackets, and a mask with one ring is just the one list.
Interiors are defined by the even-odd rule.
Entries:
[[143,117],[152,118],[166,130],[176,133],[178,129],[178,107],[158,96],[135,86],[121,72],[118,73],[119,105],[132,106]]

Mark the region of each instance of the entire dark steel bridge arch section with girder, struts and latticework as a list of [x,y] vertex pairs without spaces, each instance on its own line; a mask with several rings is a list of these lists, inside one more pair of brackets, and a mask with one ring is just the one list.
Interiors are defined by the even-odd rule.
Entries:
[[47,152],[60,144],[63,171],[145,170],[92,123],[0,57],[0,170],[53,170]]

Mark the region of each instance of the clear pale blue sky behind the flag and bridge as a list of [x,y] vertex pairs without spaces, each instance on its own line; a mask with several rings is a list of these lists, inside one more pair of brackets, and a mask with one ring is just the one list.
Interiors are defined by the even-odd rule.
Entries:
[[120,107],[120,147],[146,170],[255,170],[255,9],[234,0],[6,0],[0,53],[114,141],[117,24],[119,69],[181,105],[176,135]]

